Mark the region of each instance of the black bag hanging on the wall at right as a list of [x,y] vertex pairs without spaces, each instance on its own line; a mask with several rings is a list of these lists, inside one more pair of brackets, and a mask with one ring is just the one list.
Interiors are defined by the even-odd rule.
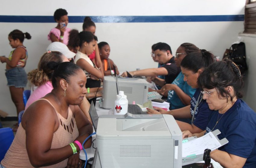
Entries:
[[246,64],[245,43],[240,42],[238,44],[232,44],[232,46],[224,52],[222,60],[225,59],[230,59],[237,64],[241,73],[244,74],[245,71],[248,70]]

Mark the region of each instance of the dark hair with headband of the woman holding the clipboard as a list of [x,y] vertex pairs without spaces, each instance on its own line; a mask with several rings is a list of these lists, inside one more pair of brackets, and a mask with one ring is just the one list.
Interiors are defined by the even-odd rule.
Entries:
[[[241,76],[239,67],[230,60],[217,61],[211,64],[198,77],[198,86],[200,88],[213,89],[216,88],[222,97],[226,97],[228,102],[228,97],[231,101],[236,96],[237,98],[242,98],[242,88],[244,82]],[[234,88],[235,95],[230,95],[230,93],[225,89],[228,86]]]

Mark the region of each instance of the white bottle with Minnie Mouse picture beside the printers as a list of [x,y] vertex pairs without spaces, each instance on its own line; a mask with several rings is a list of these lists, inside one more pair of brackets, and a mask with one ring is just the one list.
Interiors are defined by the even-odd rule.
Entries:
[[124,95],[123,91],[119,91],[115,100],[114,114],[126,114],[128,111],[128,100],[127,96]]

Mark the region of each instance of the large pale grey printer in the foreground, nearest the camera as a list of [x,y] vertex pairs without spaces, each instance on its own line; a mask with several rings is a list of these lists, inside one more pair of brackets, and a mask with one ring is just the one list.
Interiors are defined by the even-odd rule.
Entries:
[[102,167],[182,167],[182,132],[171,115],[99,116]]

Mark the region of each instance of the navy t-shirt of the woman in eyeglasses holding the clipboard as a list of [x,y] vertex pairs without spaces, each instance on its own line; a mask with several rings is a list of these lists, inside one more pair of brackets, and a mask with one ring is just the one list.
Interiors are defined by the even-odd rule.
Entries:
[[224,114],[210,113],[206,133],[214,131],[213,128],[220,130],[220,140],[229,141],[219,150],[247,158],[244,168],[256,167],[256,113],[244,101],[238,99]]

